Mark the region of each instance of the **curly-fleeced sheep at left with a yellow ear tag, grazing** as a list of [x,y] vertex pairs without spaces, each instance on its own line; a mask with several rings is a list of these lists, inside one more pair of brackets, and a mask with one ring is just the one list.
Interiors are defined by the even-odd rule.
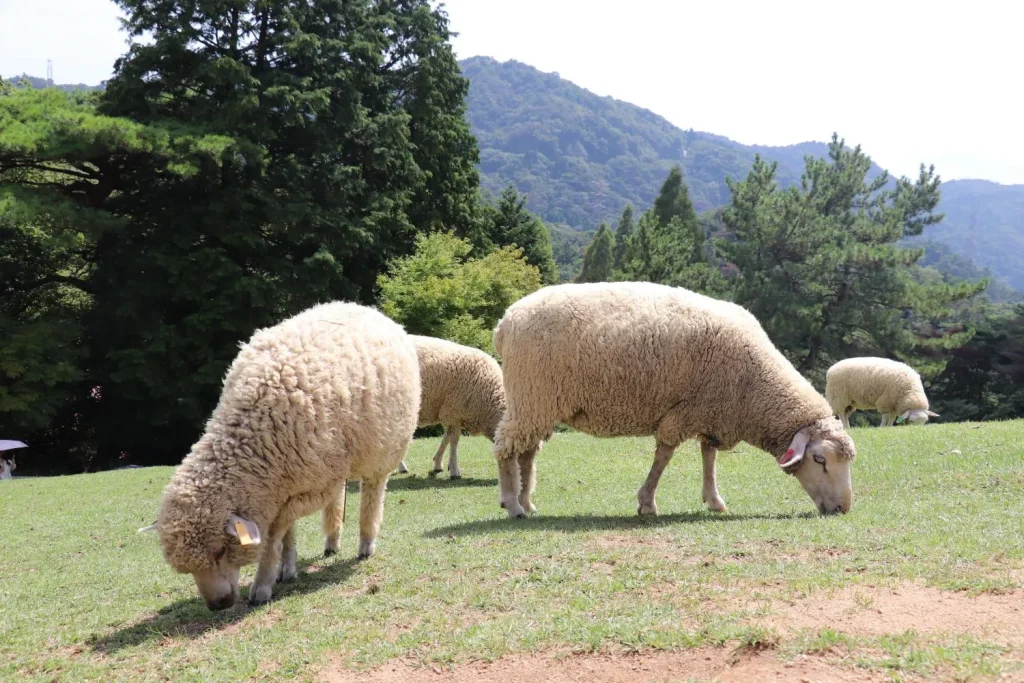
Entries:
[[416,348],[374,309],[319,304],[257,331],[165,489],[155,523],[165,559],[191,573],[212,610],[234,604],[240,567],[258,561],[249,603],[265,603],[275,580],[296,573],[296,519],[323,510],[325,554],[337,549],[334,513],[353,478],[358,557],[370,557],[419,404]]

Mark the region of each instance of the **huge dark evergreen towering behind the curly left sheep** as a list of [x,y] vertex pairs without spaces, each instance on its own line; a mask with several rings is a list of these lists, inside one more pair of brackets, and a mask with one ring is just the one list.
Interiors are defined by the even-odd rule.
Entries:
[[115,166],[104,210],[124,222],[94,252],[101,457],[175,462],[253,330],[373,302],[419,231],[475,229],[477,151],[427,0],[118,4],[150,40],[117,62],[102,113],[166,126],[172,147],[221,140],[187,174]]

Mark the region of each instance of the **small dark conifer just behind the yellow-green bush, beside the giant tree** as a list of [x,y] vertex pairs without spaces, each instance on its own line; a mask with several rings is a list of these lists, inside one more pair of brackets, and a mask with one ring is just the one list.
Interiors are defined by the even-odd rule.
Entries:
[[502,190],[497,206],[483,209],[485,231],[490,243],[499,247],[516,245],[523,251],[526,262],[541,271],[541,282],[558,282],[558,265],[551,247],[551,233],[540,218],[526,209],[526,200],[508,185]]

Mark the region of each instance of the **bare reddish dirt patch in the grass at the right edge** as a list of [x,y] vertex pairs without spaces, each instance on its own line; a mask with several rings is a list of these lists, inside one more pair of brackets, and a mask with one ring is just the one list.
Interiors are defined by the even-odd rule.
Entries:
[[776,604],[770,621],[781,630],[833,629],[850,635],[969,634],[1009,646],[1024,645],[1024,591],[950,593],[915,584],[853,586]]

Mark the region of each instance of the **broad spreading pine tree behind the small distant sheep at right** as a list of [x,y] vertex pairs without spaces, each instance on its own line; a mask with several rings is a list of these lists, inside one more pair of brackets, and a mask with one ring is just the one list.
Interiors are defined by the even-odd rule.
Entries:
[[867,180],[871,161],[837,136],[828,159],[806,160],[802,186],[775,183],[775,165],[755,161],[730,181],[720,251],[738,269],[733,296],[765,326],[799,370],[822,378],[849,355],[891,355],[926,374],[971,331],[948,327],[951,305],[985,284],[950,285],[918,276],[923,251],[897,245],[941,219],[939,178]]

